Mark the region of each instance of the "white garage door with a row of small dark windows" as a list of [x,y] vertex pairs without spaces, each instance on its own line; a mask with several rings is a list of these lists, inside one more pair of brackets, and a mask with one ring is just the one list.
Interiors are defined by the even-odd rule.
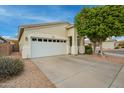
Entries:
[[31,57],[66,54],[66,40],[31,38]]

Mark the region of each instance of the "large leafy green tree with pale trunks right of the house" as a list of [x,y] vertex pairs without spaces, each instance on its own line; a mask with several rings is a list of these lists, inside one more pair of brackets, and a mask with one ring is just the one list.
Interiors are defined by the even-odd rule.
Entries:
[[79,36],[87,36],[102,51],[102,42],[111,36],[124,35],[124,6],[97,6],[83,8],[76,16],[74,26]]

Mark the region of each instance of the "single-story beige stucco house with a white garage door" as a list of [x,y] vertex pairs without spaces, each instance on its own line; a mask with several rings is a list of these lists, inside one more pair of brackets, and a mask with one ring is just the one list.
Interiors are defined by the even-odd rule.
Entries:
[[22,25],[18,41],[22,58],[84,53],[82,40],[68,22]]

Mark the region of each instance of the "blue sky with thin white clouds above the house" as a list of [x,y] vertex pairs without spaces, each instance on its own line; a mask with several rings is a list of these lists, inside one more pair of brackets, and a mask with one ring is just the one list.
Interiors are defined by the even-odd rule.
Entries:
[[[67,21],[73,24],[74,16],[84,6],[0,6],[0,36],[13,38],[18,34],[18,26],[46,22]],[[93,7],[93,6],[87,6]],[[123,37],[121,37],[123,39]]]

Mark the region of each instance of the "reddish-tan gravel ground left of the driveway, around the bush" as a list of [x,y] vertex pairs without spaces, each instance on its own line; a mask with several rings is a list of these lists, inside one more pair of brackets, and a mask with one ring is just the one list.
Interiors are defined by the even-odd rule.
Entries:
[[[16,54],[14,54],[16,55]],[[14,56],[12,56],[14,57]],[[18,57],[17,55],[15,57]],[[9,80],[0,81],[1,88],[54,88],[48,78],[30,60],[24,60],[24,72]]]

